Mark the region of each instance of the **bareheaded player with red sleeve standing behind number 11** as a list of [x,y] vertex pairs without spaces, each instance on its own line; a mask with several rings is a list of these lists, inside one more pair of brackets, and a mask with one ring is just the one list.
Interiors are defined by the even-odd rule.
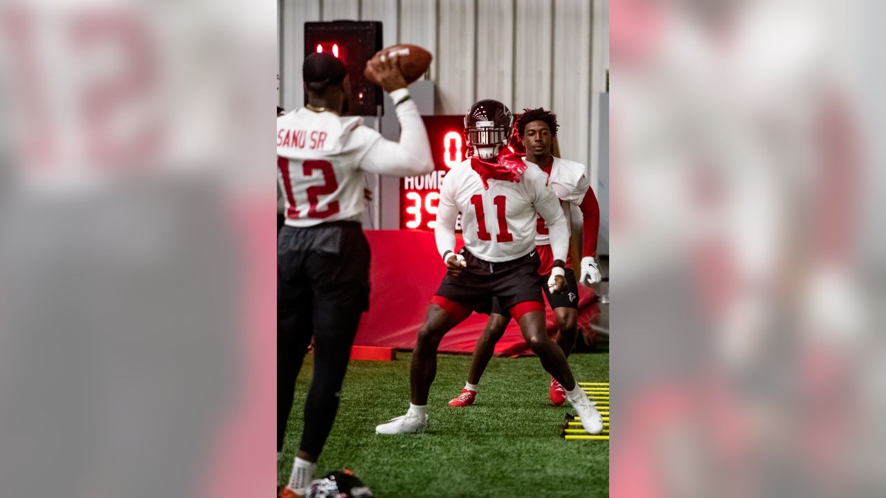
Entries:
[[[526,149],[525,160],[539,165],[541,170],[548,175],[548,186],[554,191],[557,198],[560,198],[563,209],[570,209],[569,205],[578,206],[583,215],[584,240],[581,244],[583,257],[579,282],[581,284],[595,284],[600,282],[600,270],[597,269],[594,259],[597,232],[600,230],[600,206],[597,204],[594,190],[587,182],[585,165],[551,155],[551,145],[556,137],[557,128],[559,125],[556,122],[556,115],[543,108],[524,109],[524,113],[517,119],[517,135]],[[539,218],[535,245],[541,256],[539,273],[541,276],[549,276],[553,258],[548,227],[545,226],[544,220],[541,218]],[[569,357],[572,352],[575,338],[578,335],[579,286],[571,266],[571,261],[567,259],[566,292],[545,292],[548,304],[554,310],[556,317],[558,329],[556,343],[566,357]],[[547,278],[542,278],[542,282],[545,280]],[[544,285],[542,285],[542,291],[545,291]],[[449,401],[449,406],[467,407],[474,404],[480,376],[483,375],[486,365],[492,359],[495,343],[504,335],[509,321],[510,315],[507,310],[501,309],[495,302],[493,313],[489,315],[489,322],[486,323],[486,329],[474,346],[468,382],[462,388],[462,393]],[[565,389],[554,377],[551,377],[550,380],[548,396],[555,406],[560,406],[566,401]]]

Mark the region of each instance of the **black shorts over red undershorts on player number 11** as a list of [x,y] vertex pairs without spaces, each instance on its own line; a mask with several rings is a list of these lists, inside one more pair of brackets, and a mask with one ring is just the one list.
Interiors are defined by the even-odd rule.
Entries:
[[478,313],[492,311],[493,298],[505,309],[525,301],[542,303],[539,289],[539,253],[494,263],[479,259],[462,247],[468,267],[459,276],[447,273],[437,295]]

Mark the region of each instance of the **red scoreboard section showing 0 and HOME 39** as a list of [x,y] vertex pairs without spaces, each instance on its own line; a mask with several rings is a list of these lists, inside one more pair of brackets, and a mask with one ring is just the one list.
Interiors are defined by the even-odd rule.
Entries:
[[400,229],[434,230],[440,185],[449,168],[464,160],[463,116],[424,116],[422,119],[431,142],[434,170],[428,175],[400,179]]

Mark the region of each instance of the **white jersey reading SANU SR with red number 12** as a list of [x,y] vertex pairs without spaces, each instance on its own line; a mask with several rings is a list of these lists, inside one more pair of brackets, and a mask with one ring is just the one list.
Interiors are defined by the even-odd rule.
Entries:
[[[392,97],[406,95],[394,90]],[[366,180],[380,175],[424,175],[433,169],[427,131],[415,102],[397,106],[400,143],[385,140],[359,117],[301,108],[277,118],[277,182],[286,224],[361,222]]]

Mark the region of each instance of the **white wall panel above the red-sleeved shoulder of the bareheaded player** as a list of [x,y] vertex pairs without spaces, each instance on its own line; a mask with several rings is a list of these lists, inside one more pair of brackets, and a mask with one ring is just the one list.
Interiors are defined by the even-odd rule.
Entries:
[[554,1],[554,95],[563,158],[588,166],[591,135],[591,2]]

